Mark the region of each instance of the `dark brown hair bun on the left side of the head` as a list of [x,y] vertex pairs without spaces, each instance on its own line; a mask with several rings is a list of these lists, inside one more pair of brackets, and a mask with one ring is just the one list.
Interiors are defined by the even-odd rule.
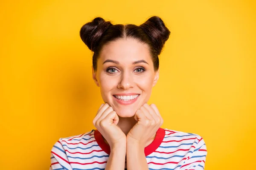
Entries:
[[112,25],[110,21],[105,21],[102,17],[96,17],[81,27],[81,40],[91,51],[94,51],[94,47],[99,43],[102,34]]

